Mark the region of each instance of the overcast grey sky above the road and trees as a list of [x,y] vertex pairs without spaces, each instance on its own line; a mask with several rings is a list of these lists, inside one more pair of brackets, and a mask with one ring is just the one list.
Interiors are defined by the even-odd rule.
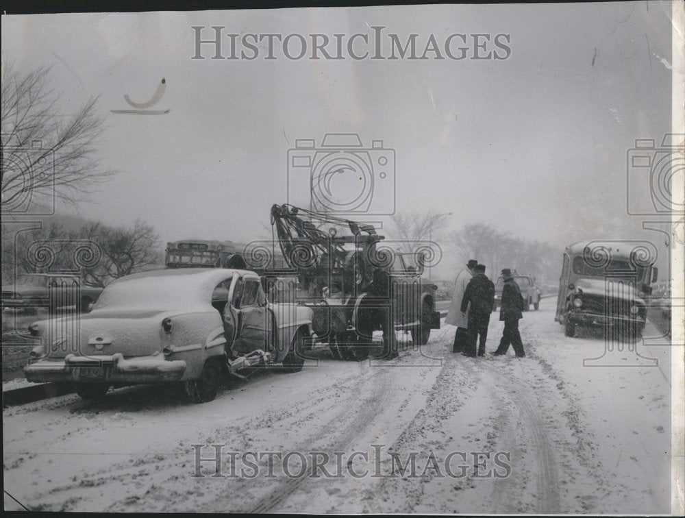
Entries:
[[[64,112],[100,96],[103,164],[121,173],[79,206],[84,217],[144,219],[165,241],[249,240],[288,201],[295,139],[356,132],[395,150],[396,210],[430,207],[453,212],[454,229],[480,221],[564,246],[645,237],[626,211],[626,153],[670,132],[670,12],[639,1],[3,16],[2,56],[24,71],[53,64]],[[401,40],[419,34],[421,51],[431,34],[504,33],[511,53],[264,60],[264,44],[252,61],[191,60],[192,25],[331,37],[382,25]],[[125,94],[150,99],[162,77],[153,109],[168,114],[110,112],[131,108]]]

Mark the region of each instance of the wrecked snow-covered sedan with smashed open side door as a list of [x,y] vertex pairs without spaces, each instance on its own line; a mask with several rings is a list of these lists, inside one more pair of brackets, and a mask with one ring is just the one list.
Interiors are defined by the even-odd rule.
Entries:
[[214,399],[223,374],[301,370],[312,310],[269,303],[252,271],[164,269],[115,280],[70,323],[67,315],[29,326],[41,340],[24,368],[29,382],[73,383],[84,399],[110,386],[182,382],[201,403]]

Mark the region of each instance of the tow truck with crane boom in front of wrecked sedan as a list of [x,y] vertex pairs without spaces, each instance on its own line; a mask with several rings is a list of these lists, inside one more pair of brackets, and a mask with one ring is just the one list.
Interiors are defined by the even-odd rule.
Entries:
[[[421,277],[420,250],[397,251],[382,243],[385,236],[373,225],[290,204],[271,207],[271,225],[287,268],[264,271],[266,292],[288,293],[290,301],[310,306],[310,342],[327,343],[334,358],[369,358],[373,332],[384,323],[410,332],[415,345],[425,345],[440,328],[437,286]],[[297,283],[284,286],[290,275]],[[388,338],[386,347],[395,336]]]

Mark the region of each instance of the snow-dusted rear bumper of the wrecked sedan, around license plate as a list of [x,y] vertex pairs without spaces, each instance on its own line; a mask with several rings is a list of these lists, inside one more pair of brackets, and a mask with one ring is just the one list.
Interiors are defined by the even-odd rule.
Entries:
[[[98,369],[101,369],[98,370]],[[184,360],[164,360],[160,356],[136,356],[125,359],[112,356],[76,356],[64,359],[43,359],[24,367],[30,382],[101,382],[135,384],[173,382],[183,378]],[[101,375],[100,375],[101,373]]]

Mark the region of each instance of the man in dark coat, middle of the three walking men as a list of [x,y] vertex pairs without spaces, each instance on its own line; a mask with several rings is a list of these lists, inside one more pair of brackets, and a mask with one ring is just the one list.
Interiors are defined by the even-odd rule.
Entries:
[[485,275],[484,264],[476,264],[473,271],[475,275],[466,286],[461,306],[463,314],[466,314],[467,310],[469,312],[470,340],[469,346],[464,351],[464,356],[475,356],[478,335],[480,335],[478,356],[484,356],[490,313],[493,312],[493,304],[495,304],[495,284]]

